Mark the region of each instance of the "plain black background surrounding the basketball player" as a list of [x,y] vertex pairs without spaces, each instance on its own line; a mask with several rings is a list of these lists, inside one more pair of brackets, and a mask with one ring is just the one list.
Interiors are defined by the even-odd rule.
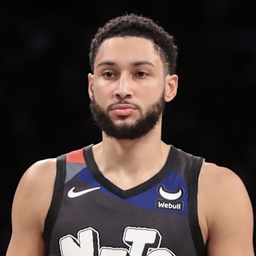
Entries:
[[233,169],[255,208],[256,13],[250,1],[2,1],[0,255],[28,166],[100,141],[88,107],[90,39],[109,18],[131,11],[154,18],[178,44],[178,95],[166,106],[164,141]]

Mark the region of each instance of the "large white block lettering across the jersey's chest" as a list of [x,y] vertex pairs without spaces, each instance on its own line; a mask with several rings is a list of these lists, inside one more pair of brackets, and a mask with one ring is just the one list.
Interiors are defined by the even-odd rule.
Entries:
[[99,233],[93,228],[78,232],[78,239],[73,235],[60,238],[62,256],[175,256],[169,249],[161,248],[161,234],[149,228],[127,227],[123,242],[126,248],[101,247]]

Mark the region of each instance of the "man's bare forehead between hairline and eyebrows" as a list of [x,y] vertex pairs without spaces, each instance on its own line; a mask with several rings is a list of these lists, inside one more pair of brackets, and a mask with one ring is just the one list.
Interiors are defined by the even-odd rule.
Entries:
[[95,58],[95,67],[102,61],[117,64],[149,61],[154,65],[162,65],[154,44],[149,39],[134,36],[114,37],[103,41]]

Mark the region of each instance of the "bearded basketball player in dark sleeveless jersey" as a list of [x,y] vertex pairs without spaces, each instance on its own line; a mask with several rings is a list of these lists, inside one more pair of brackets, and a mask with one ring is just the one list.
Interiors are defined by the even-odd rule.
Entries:
[[125,14],[90,46],[90,109],[102,141],[33,164],[18,184],[7,256],[252,256],[242,180],[161,139],[177,47]]

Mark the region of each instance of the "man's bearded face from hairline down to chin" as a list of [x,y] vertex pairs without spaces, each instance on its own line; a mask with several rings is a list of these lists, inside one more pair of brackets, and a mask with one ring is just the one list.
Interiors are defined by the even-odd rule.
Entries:
[[151,41],[107,39],[95,58],[95,73],[88,77],[92,116],[107,136],[137,139],[159,124],[166,76]]

